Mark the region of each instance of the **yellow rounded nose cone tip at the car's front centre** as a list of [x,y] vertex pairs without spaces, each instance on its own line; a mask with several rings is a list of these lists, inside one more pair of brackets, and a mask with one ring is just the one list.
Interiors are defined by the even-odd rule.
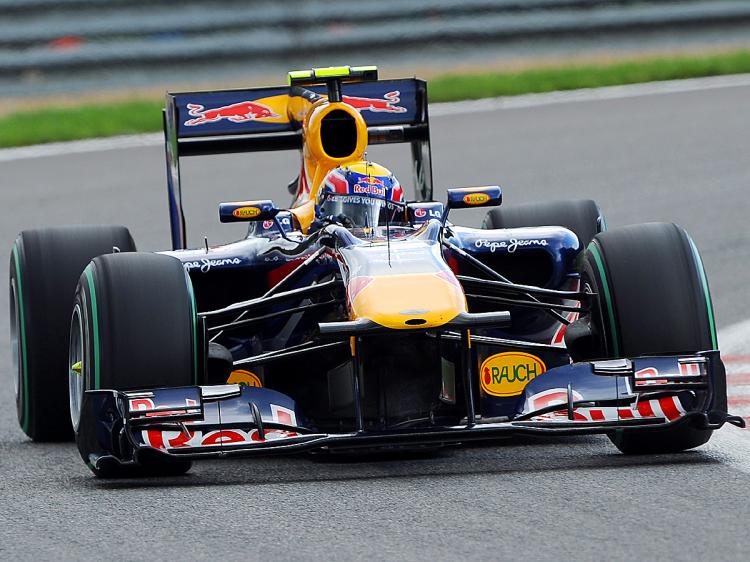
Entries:
[[352,320],[367,318],[396,330],[433,328],[466,312],[461,285],[450,271],[368,277],[349,283]]

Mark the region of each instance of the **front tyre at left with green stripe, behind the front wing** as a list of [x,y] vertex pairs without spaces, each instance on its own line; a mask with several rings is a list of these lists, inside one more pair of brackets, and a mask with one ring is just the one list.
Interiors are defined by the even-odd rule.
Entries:
[[[195,299],[182,263],[171,256],[132,253],[100,256],[81,275],[71,322],[70,416],[76,435],[84,390],[133,390],[199,384]],[[80,362],[80,363],[79,363]],[[78,441],[84,461],[88,451]],[[97,476],[181,474],[189,461],[157,455],[140,468],[89,467]]]

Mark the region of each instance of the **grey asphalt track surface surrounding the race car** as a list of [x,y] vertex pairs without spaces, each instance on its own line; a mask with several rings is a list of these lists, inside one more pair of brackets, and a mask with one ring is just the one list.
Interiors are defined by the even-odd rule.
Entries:
[[[731,376],[744,381],[750,324],[730,326],[750,317],[748,99],[750,88],[734,87],[437,117],[437,195],[499,182],[508,205],[591,197],[611,227],[680,223],[704,256],[720,344],[736,358]],[[408,177],[406,158],[390,148],[370,156]],[[191,242],[239,235],[216,222],[220,200],[286,202],[295,168],[292,154],[187,161]],[[0,163],[6,250],[23,228],[111,222],[129,226],[141,249],[164,249],[166,217],[158,148]],[[6,307],[3,298],[0,316]],[[179,478],[103,481],[73,445],[22,434],[7,342],[3,321],[2,560],[750,557],[750,435],[740,430],[678,455],[626,457],[586,437],[428,457],[216,461]]]

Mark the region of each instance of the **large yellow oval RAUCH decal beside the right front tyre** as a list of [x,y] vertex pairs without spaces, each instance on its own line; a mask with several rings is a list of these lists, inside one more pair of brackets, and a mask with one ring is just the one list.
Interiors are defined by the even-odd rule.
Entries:
[[546,370],[539,357],[509,351],[485,359],[479,369],[479,381],[482,390],[491,396],[517,396],[531,380]]

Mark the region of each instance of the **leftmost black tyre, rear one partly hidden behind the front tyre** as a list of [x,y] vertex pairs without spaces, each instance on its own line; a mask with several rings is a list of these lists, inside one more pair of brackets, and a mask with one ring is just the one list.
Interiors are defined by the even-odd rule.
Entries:
[[25,230],[10,256],[11,360],[18,423],[34,441],[70,439],[65,373],[70,305],[92,258],[135,251],[124,226]]

